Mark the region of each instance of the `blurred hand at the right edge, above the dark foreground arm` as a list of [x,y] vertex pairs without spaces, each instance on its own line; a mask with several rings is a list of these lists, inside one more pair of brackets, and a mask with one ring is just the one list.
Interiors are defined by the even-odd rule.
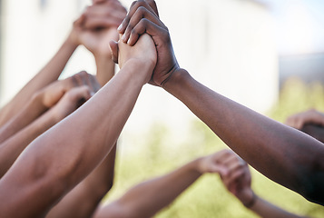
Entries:
[[286,120],[286,124],[299,130],[302,129],[305,124],[317,124],[324,126],[324,114],[315,109],[310,109],[306,112],[291,115]]

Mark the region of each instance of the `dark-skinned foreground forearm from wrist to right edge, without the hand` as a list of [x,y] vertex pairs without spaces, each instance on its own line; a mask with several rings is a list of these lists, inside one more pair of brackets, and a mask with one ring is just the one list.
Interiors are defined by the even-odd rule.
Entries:
[[322,190],[324,146],[317,140],[213,92],[184,70],[173,74],[164,89],[260,173],[304,195]]

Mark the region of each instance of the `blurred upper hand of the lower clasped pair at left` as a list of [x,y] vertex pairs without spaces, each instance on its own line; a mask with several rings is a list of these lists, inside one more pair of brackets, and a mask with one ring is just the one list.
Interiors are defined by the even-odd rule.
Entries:
[[64,80],[55,81],[53,84],[49,84],[36,95],[40,96],[41,102],[46,108],[50,108],[54,106],[54,104],[57,104],[66,92],[83,85],[89,86],[93,93],[97,92],[100,88],[95,77],[83,71]]

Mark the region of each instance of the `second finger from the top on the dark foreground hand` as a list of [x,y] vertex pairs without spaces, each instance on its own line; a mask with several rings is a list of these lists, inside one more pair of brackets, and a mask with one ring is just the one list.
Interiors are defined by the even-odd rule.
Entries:
[[156,15],[153,15],[151,11],[147,10],[145,7],[140,6],[137,8],[136,12],[132,16],[129,24],[126,27],[126,30],[123,34],[123,42],[126,43],[133,31],[134,26],[139,24],[142,19],[150,20],[152,23],[158,26],[162,26],[162,28],[166,28],[165,25],[163,25],[162,21],[159,20],[159,18]]

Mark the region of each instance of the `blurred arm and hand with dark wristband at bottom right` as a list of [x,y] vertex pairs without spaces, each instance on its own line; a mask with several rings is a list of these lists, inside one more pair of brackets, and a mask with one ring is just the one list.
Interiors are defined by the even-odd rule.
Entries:
[[302,216],[289,213],[280,207],[267,202],[256,195],[250,187],[251,177],[247,163],[245,163],[237,154],[227,150],[223,158],[220,159],[220,165],[227,169],[227,174],[221,175],[221,181],[226,188],[248,209],[260,215],[263,218],[301,218]]

